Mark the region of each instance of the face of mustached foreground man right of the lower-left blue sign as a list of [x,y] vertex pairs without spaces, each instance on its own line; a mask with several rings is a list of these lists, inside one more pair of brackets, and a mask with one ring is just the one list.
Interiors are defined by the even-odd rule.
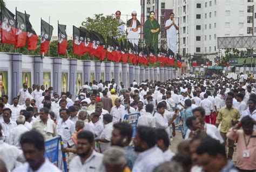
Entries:
[[85,157],[92,151],[93,143],[90,144],[90,142],[87,139],[77,139],[77,154],[81,157]]

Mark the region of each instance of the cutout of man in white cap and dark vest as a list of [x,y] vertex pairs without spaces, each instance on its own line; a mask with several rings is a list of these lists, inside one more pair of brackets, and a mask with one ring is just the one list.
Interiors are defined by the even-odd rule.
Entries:
[[128,39],[133,45],[138,45],[140,27],[142,26],[136,16],[137,12],[132,11],[132,18],[126,23],[127,31],[129,31]]

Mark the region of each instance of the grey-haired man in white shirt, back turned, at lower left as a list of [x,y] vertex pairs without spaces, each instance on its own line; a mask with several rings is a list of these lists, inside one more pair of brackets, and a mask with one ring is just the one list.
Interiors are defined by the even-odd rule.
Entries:
[[24,126],[25,123],[25,117],[23,115],[20,115],[17,117],[17,126],[11,129],[10,132],[10,140],[9,144],[14,145],[21,149],[21,145],[19,144],[19,139],[21,138],[21,135],[25,132],[28,132],[29,129]]

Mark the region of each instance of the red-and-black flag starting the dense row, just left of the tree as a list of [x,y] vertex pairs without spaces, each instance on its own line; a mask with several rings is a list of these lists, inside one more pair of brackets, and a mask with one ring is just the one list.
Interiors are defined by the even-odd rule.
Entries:
[[84,54],[85,33],[76,26],[73,26],[73,53],[78,55]]

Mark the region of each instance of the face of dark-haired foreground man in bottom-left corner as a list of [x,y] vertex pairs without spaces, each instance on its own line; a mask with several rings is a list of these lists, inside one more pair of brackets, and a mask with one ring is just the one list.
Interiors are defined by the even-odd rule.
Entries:
[[26,161],[30,164],[30,167],[38,166],[44,157],[44,149],[39,150],[33,144],[23,144],[22,150]]

